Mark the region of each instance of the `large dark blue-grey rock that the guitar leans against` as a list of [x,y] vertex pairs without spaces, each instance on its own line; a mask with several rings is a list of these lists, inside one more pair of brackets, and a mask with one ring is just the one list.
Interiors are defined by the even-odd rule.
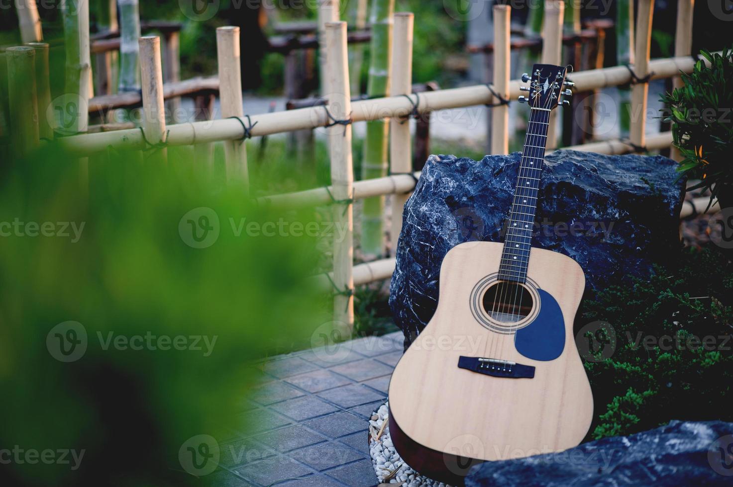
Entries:
[[[518,152],[427,160],[405,204],[391,281],[389,304],[406,337],[435,312],[448,250],[502,240],[519,160]],[[676,167],[661,156],[553,152],[545,157],[532,245],[575,259],[591,291],[645,275],[679,242],[684,181]]]

